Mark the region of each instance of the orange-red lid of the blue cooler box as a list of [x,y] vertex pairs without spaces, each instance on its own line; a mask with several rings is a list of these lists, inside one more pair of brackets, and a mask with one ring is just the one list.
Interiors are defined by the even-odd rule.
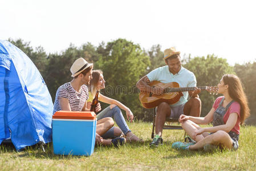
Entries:
[[83,119],[96,120],[94,112],[78,112],[78,111],[57,111],[52,115],[52,119]]

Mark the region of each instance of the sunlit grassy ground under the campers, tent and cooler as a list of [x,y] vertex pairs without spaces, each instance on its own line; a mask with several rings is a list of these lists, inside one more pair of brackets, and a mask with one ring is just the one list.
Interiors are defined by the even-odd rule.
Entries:
[[256,170],[256,129],[241,128],[237,151],[177,151],[170,146],[184,140],[184,131],[164,130],[164,145],[149,148],[151,123],[129,124],[145,143],[120,148],[95,148],[90,157],[58,156],[52,144],[43,152],[40,146],[16,152],[13,146],[0,146],[0,170]]

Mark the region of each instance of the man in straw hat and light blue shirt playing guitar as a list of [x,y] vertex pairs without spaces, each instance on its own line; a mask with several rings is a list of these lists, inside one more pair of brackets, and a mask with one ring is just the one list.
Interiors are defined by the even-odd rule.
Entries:
[[[164,88],[149,86],[154,80],[162,83],[177,82],[180,87],[196,87],[196,76],[194,76],[193,72],[181,66],[180,52],[176,51],[174,47],[168,48],[164,51],[164,60],[167,66],[156,68],[137,82],[136,86],[140,91],[151,92],[153,95],[162,95]],[[149,144],[150,146],[162,144],[162,128],[164,127],[166,117],[178,118],[181,114],[200,116],[201,100],[198,96],[200,91],[196,87],[194,91],[182,92],[183,96],[174,104],[161,102],[157,106],[155,120],[156,135],[152,143]],[[188,95],[190,97],[189,100],[187,100]]]

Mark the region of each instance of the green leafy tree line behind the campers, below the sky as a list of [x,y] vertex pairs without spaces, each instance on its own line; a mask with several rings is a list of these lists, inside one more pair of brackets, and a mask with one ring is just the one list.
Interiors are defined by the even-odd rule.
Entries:
[[[116,39],[112,42],[101,42],[94,46],[90,42],[80,47],[70,46],[59,53],[47,54],[43,47],[32,48],[30,42],[22,39],[9,39],[19,47],[38,68],[43,76],[54,102],[55,93],[59,86],[71,81],[70,67],[82,57],[89,63],[94,63],[94,70],[103,71],[106,88],[101,92],[127,105],[139,120],[152,121],[152,109],[144,109],[139,101],[139,91],[136,82],[153,69],[165,66],[164,52],[159,44],[145,50],[139,44],[126,39]],[[247,124],[256,124],[256,61],[230,66],[224,58],[216,55],[196,56],[191,58],[181,56],[182,66],[192,71],[197,78],[197,86],[217,86],[224,74],[235,74],[243,83],[249,101],[251,116]],[[214,99],[220,95],[210,95],[202,91],[201,116],[205,116],[212,108]],[[107,104],[101,103],[107,107]]]

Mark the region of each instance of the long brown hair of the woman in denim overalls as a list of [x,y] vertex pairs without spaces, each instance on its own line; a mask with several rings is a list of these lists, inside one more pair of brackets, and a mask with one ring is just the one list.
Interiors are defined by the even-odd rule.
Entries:
[[248,107],[247,97],[243,91],[241,80],[238,78],[238,76],[233,74],[225,74],[222,79],[224,84],[229,86],[229,96],[241,105],[240,121],[242,124],[243,121],[250,116],[250,109]]

